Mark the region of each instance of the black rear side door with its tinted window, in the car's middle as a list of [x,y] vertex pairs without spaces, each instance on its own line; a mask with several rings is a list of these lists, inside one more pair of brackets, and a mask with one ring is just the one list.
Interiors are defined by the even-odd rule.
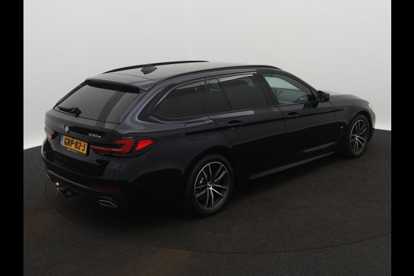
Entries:
[[284,117],[256,74],[208,79],[207,112],[235,149],[245,172],[277,166],[284,156]]

